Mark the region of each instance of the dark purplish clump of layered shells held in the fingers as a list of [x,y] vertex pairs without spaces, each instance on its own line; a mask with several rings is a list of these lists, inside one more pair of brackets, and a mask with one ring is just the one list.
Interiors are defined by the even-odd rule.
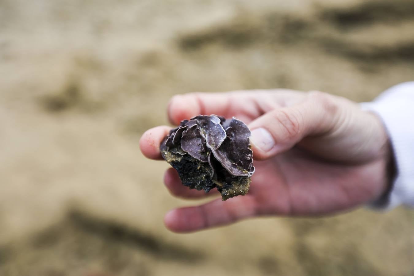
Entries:
[[249,190],[254,173],[249,137],[248,127],[235,118],[200,115],[171,130],[160,150],[184,186],[205,192],[216,187],[226,200]]

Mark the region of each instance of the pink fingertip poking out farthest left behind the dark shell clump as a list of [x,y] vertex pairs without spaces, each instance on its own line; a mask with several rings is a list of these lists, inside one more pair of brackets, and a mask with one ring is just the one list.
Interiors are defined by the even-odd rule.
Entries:
[[150,159],[162,160],[159,145],[161,144],[161,141],[164,139],[164,137],[168,135],[170,130],[171,127],[163,125],[154,127],[144,132],[140,139],[140,149],[142,154]]

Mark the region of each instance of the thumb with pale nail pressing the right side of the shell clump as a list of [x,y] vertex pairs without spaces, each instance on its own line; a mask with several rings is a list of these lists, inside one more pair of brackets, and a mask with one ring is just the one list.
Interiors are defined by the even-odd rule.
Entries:
[[330,132],[338,113],[333,97],[316,91],[310,92],[301,103],[260,116],[249,125],[255,158],[270,158],[291,149],[308,135]]

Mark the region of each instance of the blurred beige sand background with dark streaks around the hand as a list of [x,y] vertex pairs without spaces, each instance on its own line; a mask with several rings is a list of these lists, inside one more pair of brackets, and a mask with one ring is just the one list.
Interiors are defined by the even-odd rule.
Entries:
[[414,212],[176,235],[140,135],[173,94],[413,79],[411,0],[0,0],[0,275],[413,275]]

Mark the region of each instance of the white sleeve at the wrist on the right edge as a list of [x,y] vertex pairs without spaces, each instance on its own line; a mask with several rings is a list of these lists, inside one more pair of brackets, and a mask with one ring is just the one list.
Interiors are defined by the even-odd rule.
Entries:
[[397,175],[387,197],[373,202],[373,207],[391,209],[399,205],[414,207],[414,82],[391,87],[365,110],[383,121],[394,151]]

